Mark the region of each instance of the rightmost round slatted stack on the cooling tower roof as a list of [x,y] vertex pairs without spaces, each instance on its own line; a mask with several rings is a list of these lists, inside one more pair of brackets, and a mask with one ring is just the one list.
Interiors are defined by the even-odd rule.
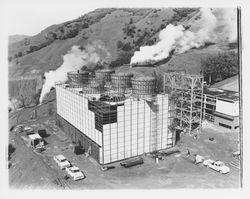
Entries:
[[156,94],[156,78],[136,77],[131,79],[132,94],[137,98],[151,98]]

